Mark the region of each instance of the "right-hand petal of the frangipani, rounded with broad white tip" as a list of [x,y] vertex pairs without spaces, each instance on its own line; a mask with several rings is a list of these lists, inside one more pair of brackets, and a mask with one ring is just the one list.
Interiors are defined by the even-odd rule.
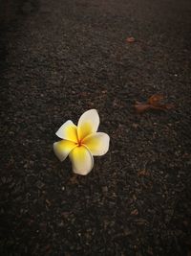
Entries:
[[83,139],[82,144],[84,144],[93,155],[103,155],[109,150],[110,137],[107,133],[96,132]]

